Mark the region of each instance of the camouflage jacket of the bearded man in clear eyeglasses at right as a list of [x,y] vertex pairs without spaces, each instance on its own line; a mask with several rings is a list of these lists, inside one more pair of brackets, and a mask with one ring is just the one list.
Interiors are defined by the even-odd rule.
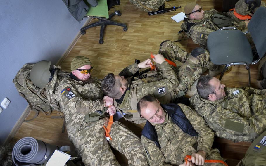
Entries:
[[227,97],[209,101],[198,94],[190,103],[218,137],[253,141],[266,129],[266,89],[227,88]]

